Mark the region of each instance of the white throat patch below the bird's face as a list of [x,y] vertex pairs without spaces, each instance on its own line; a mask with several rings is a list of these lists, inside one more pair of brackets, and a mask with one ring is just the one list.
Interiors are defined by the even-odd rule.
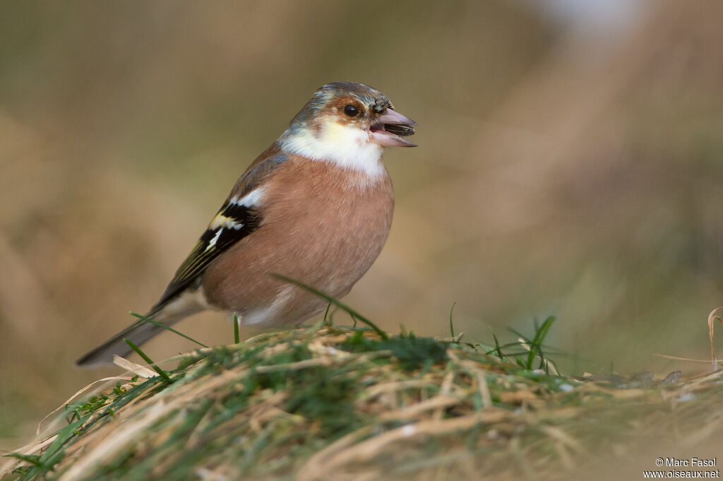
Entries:
[[343,169],[351,169],[376,177],[384,174],[384,149],[369,140],[369,132],[341,123],[322,126],[319,135],[308,129],[286,130],[279,139],[282,150],[314,161],[332,162]]

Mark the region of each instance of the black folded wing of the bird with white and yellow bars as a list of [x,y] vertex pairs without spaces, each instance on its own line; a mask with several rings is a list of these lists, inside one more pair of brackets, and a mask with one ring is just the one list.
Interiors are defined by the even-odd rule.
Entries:
[[168,302],[192,286],[216,257],[260,226],[262,212],[256,203],[262,184],[287,160],[288,156],[273,145],[249,166],[191,253],[176,271],[161,300],[149,312],[150,315],[162,310]]

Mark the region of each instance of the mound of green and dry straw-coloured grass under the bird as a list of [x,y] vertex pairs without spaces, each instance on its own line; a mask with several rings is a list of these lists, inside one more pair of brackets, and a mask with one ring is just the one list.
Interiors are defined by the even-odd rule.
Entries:
[[0,480],[572,479],[723,433],[723,373],[595,382],[527,347],[317,325],[201,349],[68,404]]

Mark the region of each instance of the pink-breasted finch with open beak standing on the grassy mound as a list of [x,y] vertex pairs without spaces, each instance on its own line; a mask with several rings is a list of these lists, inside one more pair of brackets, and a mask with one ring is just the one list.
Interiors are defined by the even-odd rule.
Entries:
[[[161,299],[145,317],[171,325],[204,310],[234,312],[241,325],[300,325],[328,302],[281,274],[340,298],[367,272],[388,237],[388,147],[416,147],[416,122],[386,95],[357,82],[322,85],[288,128],[244,171]],[[163,331],[138,320],[77,360],[114,355]]]

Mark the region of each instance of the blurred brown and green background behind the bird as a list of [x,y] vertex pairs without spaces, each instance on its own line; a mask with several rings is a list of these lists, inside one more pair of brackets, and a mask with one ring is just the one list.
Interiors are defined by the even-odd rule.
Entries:
[[[707,359],[723,305],[722,22],[713,0],[2,2],[0,449],[118,373],[73,362],[334,80],[419,122],[345,302],[429,336],[456,302],[469,341],[555,315],[567,374],[705,370],[656,354]],[[220,314],[178,327],[233,339]]]

